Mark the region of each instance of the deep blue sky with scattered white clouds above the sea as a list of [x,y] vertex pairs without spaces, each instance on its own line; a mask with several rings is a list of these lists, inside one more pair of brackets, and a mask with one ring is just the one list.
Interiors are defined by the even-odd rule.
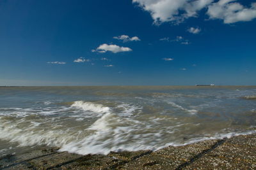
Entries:
[[0,85],[256,85],[255,39],[255,0],[0,0]]

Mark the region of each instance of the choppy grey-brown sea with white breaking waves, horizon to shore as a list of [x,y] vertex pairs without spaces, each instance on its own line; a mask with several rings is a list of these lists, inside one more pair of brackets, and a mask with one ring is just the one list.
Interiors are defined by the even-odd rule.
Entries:
[[158,150],[256,132],[256,87],[0,87],[0,155]]

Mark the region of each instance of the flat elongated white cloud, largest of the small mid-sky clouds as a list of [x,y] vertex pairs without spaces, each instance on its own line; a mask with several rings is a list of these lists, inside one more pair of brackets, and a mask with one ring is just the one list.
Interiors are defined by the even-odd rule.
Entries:
[[96,50],[92,50],[92,52],[99,52],[99,53],[106,53],[108,51],[113,53],[131,52],[132,49],[124,46],[102,44]]

